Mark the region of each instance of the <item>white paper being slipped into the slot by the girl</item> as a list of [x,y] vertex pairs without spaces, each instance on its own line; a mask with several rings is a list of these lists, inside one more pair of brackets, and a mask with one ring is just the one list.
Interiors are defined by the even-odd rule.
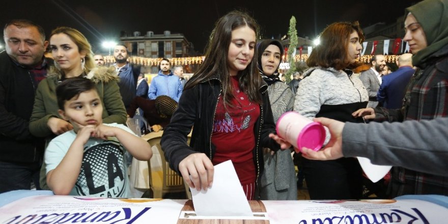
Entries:
[[197,215],[253,216],[231,160],[215,165],[212,187],[190,190]]

